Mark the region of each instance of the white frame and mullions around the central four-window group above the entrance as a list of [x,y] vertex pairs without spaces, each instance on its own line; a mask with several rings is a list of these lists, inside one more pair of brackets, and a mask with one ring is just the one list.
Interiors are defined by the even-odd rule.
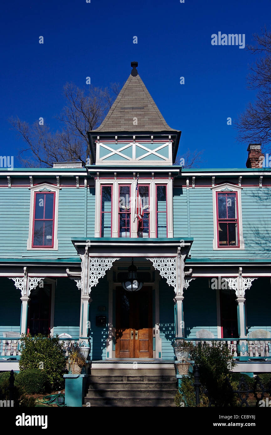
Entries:
[[[119,237],[119,185],[131,185],[132,207],[134,207],[136,198],[136,179],[123,180],[101,180],[96,179],[95,183],[95,237],[101,237],[101,185],[113,185],[112,192],[112,238]],[[138,184],[149,185],[149,238],[156,238],[156,184],[164,184],[167,188],[167,237],[173,237],[173,190],[172,179],[140,179]],[[131,209],[131,238],[137,237],[137,222],[134,222],[134,210]]]

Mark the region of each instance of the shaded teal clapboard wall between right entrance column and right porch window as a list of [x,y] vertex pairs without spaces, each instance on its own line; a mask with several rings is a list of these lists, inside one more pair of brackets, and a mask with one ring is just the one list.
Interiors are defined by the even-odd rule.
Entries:
[[196,278],[184,291],[183,320],[185,337],[196,338],[196,331],[207,329],[217,337],[216,290],[208,278]]

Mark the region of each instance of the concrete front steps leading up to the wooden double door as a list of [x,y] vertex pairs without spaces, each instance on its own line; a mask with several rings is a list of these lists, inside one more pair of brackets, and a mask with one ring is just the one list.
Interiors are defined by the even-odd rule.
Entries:
[[176,406],[172,361],[101,361],[91,364],[83,406]]

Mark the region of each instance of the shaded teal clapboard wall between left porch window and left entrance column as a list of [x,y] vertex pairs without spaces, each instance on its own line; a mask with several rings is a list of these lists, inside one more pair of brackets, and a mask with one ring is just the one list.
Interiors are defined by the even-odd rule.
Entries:
[[81,292],[75,281],[58,278],[54,297],[54,335],[79,336]]

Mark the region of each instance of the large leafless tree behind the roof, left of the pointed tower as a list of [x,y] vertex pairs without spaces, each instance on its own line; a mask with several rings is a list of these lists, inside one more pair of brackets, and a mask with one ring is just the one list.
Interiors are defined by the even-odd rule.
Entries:
[[111,88],[89,87],[88,91],[72,83],[63,90],[67,104],[57,117],[61,129],[51,132],[39,121],[29,126],[18,117],[10,124],[23,137],[26,147],[19,152],[21,164],[26,167],[51,167],[54,161],[81,161],[89,156],[87,131],[98,127],[119,93],[119,84]]

